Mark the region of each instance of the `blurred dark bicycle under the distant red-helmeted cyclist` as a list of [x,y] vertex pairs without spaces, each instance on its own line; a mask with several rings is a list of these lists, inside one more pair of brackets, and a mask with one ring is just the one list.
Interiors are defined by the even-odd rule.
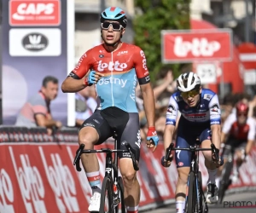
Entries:
[[[227,145],[226,145],[227,146]],[[224,147],[224,149],[227,147]],[[226,190],[230,187],[230,184],[232,181],[230,180],[230,175],[233,170],[234,165],[234,150],[232,147],[229,147],[231,149],[231,152],[228,155],[228,160],[224,164],[224,168],[221,172],[221,181],[219,181],[219,189],[218,189],[218,204],[222,204],[222,201],[224,199],[224,194]],[[223,150],[224,153],[224,150]]]

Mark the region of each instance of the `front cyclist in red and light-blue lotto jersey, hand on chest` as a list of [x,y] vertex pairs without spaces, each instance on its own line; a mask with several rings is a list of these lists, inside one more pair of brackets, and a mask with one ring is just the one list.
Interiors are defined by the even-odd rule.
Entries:
[[[148,121],[147,147],[154,147],[154,151],[159,138],[154,127],[154,93],[149,83],[146,56],[136,45],[121,42],[126,23],[122,9],[110,7],[102,12],[103,43],[84,53],[61,89],[63,92],[77,92],[91,84],[96,85],[98,105],[79,130],[79,144],[84,143],[85,149],[93,149],[116,131],[118,148],[125,149],[122,141],[128,141],[137,152],[139,161],[141,137],[135,94],[137,81]],[[125,186],[127,213],[136,213],[140,186],[130,157],[128,153],[119,154],[119,169]],[[82,154],[81,158],[92,188],[89,211],[99,211],[101,181],[98,159],[95,153]]]

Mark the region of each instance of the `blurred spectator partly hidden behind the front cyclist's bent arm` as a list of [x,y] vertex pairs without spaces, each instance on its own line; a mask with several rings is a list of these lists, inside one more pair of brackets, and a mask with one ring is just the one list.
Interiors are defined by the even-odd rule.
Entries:
[[76,93],[76,126],[80,127],[84,120],[90,117],[97,107],[91,87],[86,87]]

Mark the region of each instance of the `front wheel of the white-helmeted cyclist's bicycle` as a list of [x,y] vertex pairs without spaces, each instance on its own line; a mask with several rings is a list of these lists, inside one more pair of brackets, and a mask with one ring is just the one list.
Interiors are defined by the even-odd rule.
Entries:
[[189,173],[189,193],[188,193],[188,205],[187,205],[187,212],[194,213],[195,212],[195,204],[196,204],[196,188],[195,188],[195,173]]

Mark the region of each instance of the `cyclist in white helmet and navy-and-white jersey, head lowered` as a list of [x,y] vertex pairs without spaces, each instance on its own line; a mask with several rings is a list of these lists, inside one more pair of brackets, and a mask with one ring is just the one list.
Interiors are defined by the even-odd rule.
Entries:
[[[177,92],[171,96],[166,112],[165,151],[172,142],[178,111],[181,112],[181,116],[177,126],[176,147],[193,146],[196,138],[199,137],[202,148],[209,148],[213,143],[219,151],[221,128],[218,96],[210,89],[202,89],[201,80],[194,72],[186,72],[177,78]],[[205,151],[203,154],[209,173],[207,203],[214,204],[218,201],[215,176],[220,165],[220,158],[217,162],[211,151]],[[172,155],[170,157],[172,158]],[[189,151],[176,151],[175,153],[178,172],[175,193],[177,213],[183,213],[184,209],[191,164],[190,157],[191,153]],[[166,161],[163,157],[161,163],[168,167],[171,161]]]

